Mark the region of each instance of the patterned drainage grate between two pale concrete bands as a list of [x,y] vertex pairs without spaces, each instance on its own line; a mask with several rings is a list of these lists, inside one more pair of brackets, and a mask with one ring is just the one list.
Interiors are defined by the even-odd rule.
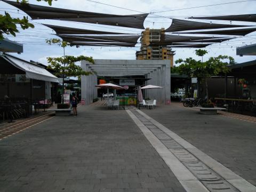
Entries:
[[131,110],[132,113],[203,183],[210,191],[239,192],[234,186],[223,179],[220,175],[211,170],[203,162],[199,161],[194,155],[189,153],[179,143],[174,141],[169,135],[160,130],[137,111]]

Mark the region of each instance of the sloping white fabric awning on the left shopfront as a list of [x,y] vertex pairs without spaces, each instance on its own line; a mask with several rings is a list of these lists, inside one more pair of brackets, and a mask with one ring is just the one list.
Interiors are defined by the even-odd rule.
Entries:
[[45,68],[38,65],[34,65],[28,61],[16,58],[9,54],[3,54],[2,58],[11,63],[14,67],[19,68],[22,71],[26,72],[26,77],[31,79],[37,79],[41,81],[49,81],[58,83],[58,78],[52,75]]

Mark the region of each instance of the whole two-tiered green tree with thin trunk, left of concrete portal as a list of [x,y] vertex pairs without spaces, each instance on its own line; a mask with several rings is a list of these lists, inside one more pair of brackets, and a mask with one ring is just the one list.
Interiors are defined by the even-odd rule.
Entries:
[[81,75],[90,75],[91,72],[83,71],[82,67],[76,65],[75,63],[78,61],[89,61],[94,63],[92,57],[85,57],[84,55],[80,55],[74,57],[72,55],[65,55],[65,47],[70,44],[65,41],[61,41],[60,39],[46,39],[46,43],[49,45],[57,44],[63,48],[63,57],[48,57],[47,61],[50,65],[47,67],[55,71],[54,75],[62,77],[62,104],[64,103],[63,93],[64,93],[64,78],[65,77],[80,77]]

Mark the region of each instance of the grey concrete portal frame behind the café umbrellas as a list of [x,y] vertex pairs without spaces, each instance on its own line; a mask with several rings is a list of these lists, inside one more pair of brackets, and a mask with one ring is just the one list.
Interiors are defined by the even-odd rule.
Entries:
[[[146,85],[157,85],[162,86],[162,89],[150,89],[145,90],[145,95],[143,98],[156,99],[158,103],[165,103],[166,99],[170,99],[171,97],[171,64],[170,60],[104,60],[104,59],[96,59],[94,60],[94,65],[122,65],[129,68],[129,65],[137,65],[138,69],[134,70],[134,73],[138,73],[138,71],[143,70],[143,67],[150,68],[153,65],[159,65],[157,69],[153,69],[148,74],[145,75],[146,78],[151,78],[146,82]],[[81,67],[85,71],[90,71],[90,63],[86,61],[81,62]],[[111,68],[111,67],[110,67]],[[116,74],[116,77],[121,77],[122,72]],[[134,74],[135,75],[135,74]],[[111,73],[105,73],[105,76],[115,77]],[[131,74],[132,76],[132,74]],[[82,98],[85,99],[86,105],[89,105],[93,98],[97,98],[97,89],[95,87],[97,85],[97,76],[89,75],[82,76],[81,78],[81,88],[82,88]]]

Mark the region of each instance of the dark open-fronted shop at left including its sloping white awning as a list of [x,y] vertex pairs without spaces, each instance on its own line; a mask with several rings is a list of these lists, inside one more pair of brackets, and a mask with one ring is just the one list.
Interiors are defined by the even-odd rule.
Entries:
[[0,119],[29,116],[39,104],[48,105],[56,84],[58,78],[44,67],[1,53]]

